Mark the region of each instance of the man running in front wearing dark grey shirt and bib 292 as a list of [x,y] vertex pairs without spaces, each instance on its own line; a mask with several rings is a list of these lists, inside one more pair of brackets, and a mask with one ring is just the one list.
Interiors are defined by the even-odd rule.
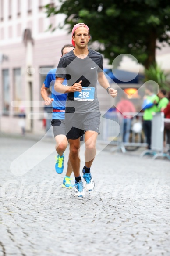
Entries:
[[[99,133],[100,112],[97,99],[96,85],[107,90],[111,97],[117,96],[117,90],[109,86],[103,73],[102,55],[88,49],[89,28],[84,23],[78,23],[72,30],[72,44],[74,50],[65,54],[56,71],[55,90],[68,93],[65,111],[65,127],[70,143],[69,159],[74,171],[74,196],[85,197],[85,191],[94,189],[90,167],[96,155],[96,140]],[[68,87],[62,85],[67,79]],[[85,131],[85,166],[83,168],[83,182],[80,176],[80,159],[78,139]]]

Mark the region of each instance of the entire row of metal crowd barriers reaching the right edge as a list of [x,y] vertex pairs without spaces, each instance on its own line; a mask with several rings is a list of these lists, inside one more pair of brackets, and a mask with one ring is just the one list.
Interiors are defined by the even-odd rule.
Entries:
[[[143,113],[124,112],[124,115],[119,112],[107,112],[102,115],[100,124],[99,143],[113,145],[111,151],[120,149],[123,153],[134,151],[138,147],[147,147],[146,137],[142,128]],[[164,122],[170,122],[170,119],[165,119],[164,114],[159,112],[152,119],[152,135],[151,135],[151,150],[142,152],[141,157],[145,154],[156,157],[167,157],[170,160],[170,155],[164,150]]]

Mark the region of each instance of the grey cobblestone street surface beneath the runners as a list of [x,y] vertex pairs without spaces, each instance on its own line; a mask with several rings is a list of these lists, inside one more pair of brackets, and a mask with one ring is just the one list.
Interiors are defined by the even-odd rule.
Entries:
[[53,138],[36,142],[0,137],[0,256],[170,256],[170,161],[103,150],[75,198],[68,148],[59,175]]

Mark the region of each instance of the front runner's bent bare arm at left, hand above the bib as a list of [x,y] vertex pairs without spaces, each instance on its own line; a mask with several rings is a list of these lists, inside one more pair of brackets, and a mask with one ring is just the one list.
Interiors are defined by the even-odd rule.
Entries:
[[72,86],[64,86],[62,83],[64,81],[64,78],[56,77],[54,89],[62,94],[75,92],[75,91],[81,91],[81,80],[78,83],[74,83]]

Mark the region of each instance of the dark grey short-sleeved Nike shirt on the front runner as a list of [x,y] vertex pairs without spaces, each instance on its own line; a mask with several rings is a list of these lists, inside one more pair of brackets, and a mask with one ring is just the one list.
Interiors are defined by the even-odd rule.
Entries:
[[66,113],[87,113],[99,112],[99,101],[97,99],[97,73],[103,72],[103,57],[95,50],[89,50],[86,58],[81,59],[75,56],[73,50],[60,58],[56,77],[66,78],[68,86],[82,80],[82,87],[94,87],[93,101],[74,100],[74,93],[68,93],[66,101]]

